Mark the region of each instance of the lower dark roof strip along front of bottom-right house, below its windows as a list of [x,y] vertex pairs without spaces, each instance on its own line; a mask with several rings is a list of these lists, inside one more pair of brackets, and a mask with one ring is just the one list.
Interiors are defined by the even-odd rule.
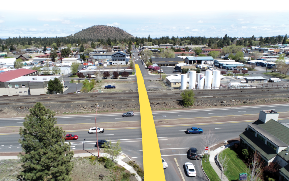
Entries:
[[255,137],[255,135],[253,135],[247,130],[241,133],[240,137],[245,140],[251,147],[256,149],[256,151],[259,152],[267,160],[270,160],[277,155],[275,150],[265,145],[265,143],[263,143],[261,140]]

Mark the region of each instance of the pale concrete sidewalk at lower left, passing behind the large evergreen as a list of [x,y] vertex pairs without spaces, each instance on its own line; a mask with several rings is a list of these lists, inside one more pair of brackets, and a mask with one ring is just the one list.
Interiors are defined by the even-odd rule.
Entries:
[[[18,154],[18,152],[17,152]],[[90,157],[90,156],[97,156],[97,152],[86,152],[86,153],[77,153],[77,154],[74,154],[73,157]],[[99,153],[100,157],[104,157],[104,156],[108,156],[108,154],[106,153]],[[19,159],[18,156],[0,156],[0,160],[8,160],[8,159]],[[142,178],[137,174],[137,172],[130,166],[128,165],[125,161],[123,160],[131,160],[126,154],[124,153],[121,153],[120,156],[118,156],[116,158],[116,162],[121,165],[122,167],[124,167],[126,170],[130,171],[130,173],[134,173],[136,174],[135,177],[138,181],[142,181]]]

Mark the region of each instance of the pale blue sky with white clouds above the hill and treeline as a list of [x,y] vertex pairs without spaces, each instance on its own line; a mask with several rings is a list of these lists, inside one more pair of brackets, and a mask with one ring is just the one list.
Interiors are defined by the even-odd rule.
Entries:
[[0,38],[63,37],[93,25],[138,37],[289,34],[286,0],[14,0],[1,2]]

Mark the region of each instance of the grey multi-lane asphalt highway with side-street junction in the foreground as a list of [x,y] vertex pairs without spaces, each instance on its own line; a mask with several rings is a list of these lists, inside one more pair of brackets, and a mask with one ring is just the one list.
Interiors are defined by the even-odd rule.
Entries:
[[[222,121],[222,117],[236,116],[236,115],[251,115],[255,116],[259,114],[261,109],[274,109],[277,112],[287,112],[289,110],[289,104],[280,105],[262,105],[262,106],[244,106],[244,107],[224,107],[213,109],[194,109],[194,110],[171,110],[153,112],[155,120],[163,120],[163,115],[166,115],[165,119],[184,119],[184,118],[216,118]],[[69,124],[69,123],[94,123],[95,115],[78,115],[78,116],[57,116],[57,124]],[[121,119],[118,119],[121,118]],[[124,121],[139,121],[140,115],[136,113],[134,117],[122,117],[119,113],[114,114],[99,114],[97,116],[98,122],[124,122]],[[247,124],[251,124],[253,121],[246,121],[240,116],[240,121],[223,122],[223,123],[203,123],[198,124],[186,124],[186,125],[163,125],[157,126],[157,136],[160,146],[162,158],[168,163],[168,168],[164,170],[167,181],[179,181],[181,180],[180,173],[174,162],[174,158],[178,158],[178,163],[182,168],[182,173],[185,176],[183,164],[185,162],[192,162],[197,171],[197,177],[185,176],[186,181],[190,180],[207,180],[204,173],[201,170],[200,160],[190,160],[187,158],[187,151],[190,147],[196,147],[199,153],[202,153],[203,147],[201,145],[201,134],[189,135],[185,133],[187,128],[196,126],[202,128],[204,131],[213,130],[214,134],[218,138],[219,142],[224,140],[230,140],[239,137],[239,134],[244,131]],[[280,122],[289,124],[289,118],[280,118]],[[15,126],[22,125],[22,118],[0,119],[1,127],[4,125]],[[125,123],[124,123],[125,124]],[[88,134],[88,128],[77,131],[66,131],[67,133],[77,134],[78,140],[71,141],[72,150],[92,149],[96,142],[96,134]],[[122,150],[125,154],[133,158],[140,166],[143,165],[142,159],[142,135],[140,128],[106,128],[104,133],[98,134],[99,139],[109,139],[112,142],[120,140]],[[20,139],[18,133],[13,134],[0,134],[0,152],[20,152],[21,145],[18,143]],[[85,142],[83,142],[83,140]],[[66,141],[68,142],[68,141]]]

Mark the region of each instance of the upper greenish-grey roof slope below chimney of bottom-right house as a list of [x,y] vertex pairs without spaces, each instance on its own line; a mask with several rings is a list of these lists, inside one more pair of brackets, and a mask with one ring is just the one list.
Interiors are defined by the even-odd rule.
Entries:
[[268,131],[282,142],[286,143],[285,146],[289,145],[289,126],[278,121],[274,121],[273,119],[263,123],[262,121],[258,120],[255,121],[255,125],[260,126],[264,130]]

